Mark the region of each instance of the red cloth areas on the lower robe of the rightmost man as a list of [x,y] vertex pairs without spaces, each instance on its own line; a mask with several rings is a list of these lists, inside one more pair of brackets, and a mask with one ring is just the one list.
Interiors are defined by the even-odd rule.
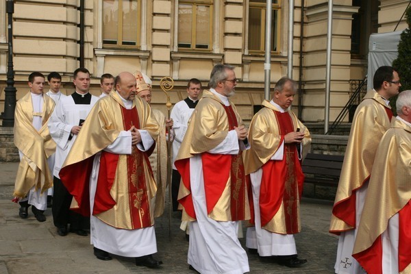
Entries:
[[[401,272],[411,263],[411,201],[408,201],[398,212],[399,241],[398,241],[398,271]],[[367,273],[382,274],[382,236],[379,235],[368,249],[353,254]]]

